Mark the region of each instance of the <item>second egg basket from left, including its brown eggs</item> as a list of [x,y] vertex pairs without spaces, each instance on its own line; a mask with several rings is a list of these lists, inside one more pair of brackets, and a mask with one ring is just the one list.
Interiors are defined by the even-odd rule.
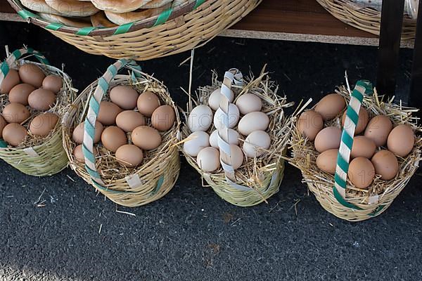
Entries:
[[[127,69],[130,74],[117,74]],[[118,60],[89,85],[63,119],[72,169],[113,202],[139,207],[177,181],[179,115],[162,82]]]

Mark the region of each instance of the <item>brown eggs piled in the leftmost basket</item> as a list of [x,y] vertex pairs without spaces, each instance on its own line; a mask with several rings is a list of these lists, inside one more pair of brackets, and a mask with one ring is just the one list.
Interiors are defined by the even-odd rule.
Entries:
[[[9,70],[1,82],[0,93],[8,96],[8,104],[0,115],[0,138],[18,146],[27,136],[45,137],[56,127],[58,116],[46,112],[56,103],[63,86],[61,77],[44,74],[37,65],[25,63],[19,70]],[[27,128],[23,126],[37,112]]]

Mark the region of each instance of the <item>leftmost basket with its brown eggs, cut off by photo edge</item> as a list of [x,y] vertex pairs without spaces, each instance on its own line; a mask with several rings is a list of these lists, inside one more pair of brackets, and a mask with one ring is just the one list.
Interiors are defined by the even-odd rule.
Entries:
[[76,98],[68,74],[38,51],[22,48],[1,64],[0,93],[0,158],[31,176],[64,169],[60,119]]

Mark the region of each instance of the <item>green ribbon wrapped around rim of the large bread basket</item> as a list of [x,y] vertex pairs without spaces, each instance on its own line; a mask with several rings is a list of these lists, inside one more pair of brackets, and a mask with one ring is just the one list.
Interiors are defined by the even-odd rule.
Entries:
[[[193,6],[193,10],[196,10],[196,8],[198,8],[200,5],[204,4],[205,1],[207,0],[196,0],[195,5]],[[23,7],[22,4],[20,4],[20,1],[18,0],[14,0],[13,1],[15,3],[16,6],[18,6],[20,8],[20,11],[18,11],[18,15],[20,15],[21,18],[23,18],[24,20],[28,20],[30,18],[37,18],[39,20],[42,20],[39,15],[32,13],[31,11],[28,11],[27,9],[25,9],[25,7]],[[155,22],[153,22],[153,24],[151,25],[151,27],[155,27],[158,25],[162,25],[163,23],[167,22],[167,20],[169,20],[174,12],[174,8],[175,6],[172,6],[170,8],[168,8],[165,11],[162,11],[162,13],[160,13],[158,15],[158,18],[155,20]],[[127,33],[129,31],[132,30],[132,27],[134,26],[136,22],[129,22],[126,23],[124,25],[120,25],[115,29],[115,32],[113,35],[118,35],[118,34],[124,34]],[[59,22],[50,22],[49,25],[46,25],[45,28],[47,30],[60,30],[60,28],[62,27],[68,27],[66,25],[63,25]],[[75,27],[70,27],[72,29],[74,29]],[[91,33],[94,30],[101,30],[104,27],[82,27],[82,28],[77,28],[75,31],[75,34],[77,35],[81,35],[81,36],[88,36],[91,35]]]

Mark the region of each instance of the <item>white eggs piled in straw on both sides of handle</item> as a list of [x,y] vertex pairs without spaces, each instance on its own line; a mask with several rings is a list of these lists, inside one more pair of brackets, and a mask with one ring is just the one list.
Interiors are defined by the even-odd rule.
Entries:
[[[219,108],[221,88],[215,89],[208,98],[208,105],[198,105],[188,116],[188,129],[191,134],[184,142],[184,151],[196,157],[203,171],[216,171],[220,167],[218,131],[229,143],[231,166],[236,170],[243,164],[244,157],[260,157],[271,145],[271,138],[265,131],[269,117],[261,112],[262,100],[252,93],[229,98],[229,128],[224,128],[224,112]],[[239,140],[243,141],[242,148]]]

